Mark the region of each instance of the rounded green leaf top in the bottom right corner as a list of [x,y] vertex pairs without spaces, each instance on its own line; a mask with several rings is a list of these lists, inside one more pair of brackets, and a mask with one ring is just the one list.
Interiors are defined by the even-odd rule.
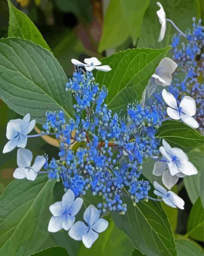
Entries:
[[176,248],[178,256],[203,256],[204,251],[201,246],[188,238],[176,238]]

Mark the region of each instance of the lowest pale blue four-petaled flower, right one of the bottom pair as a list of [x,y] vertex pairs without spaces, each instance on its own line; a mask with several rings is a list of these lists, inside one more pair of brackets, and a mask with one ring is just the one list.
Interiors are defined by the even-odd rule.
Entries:
[[88,206],[85,210],[84,220],[87,225],[81,221],[76,222],[70,229],[69,236],[74,240],[82,240],[86,248],[90,248],[98,238],[98,233],[108,228],[108,222],[100,218],[99,211],[93,205]]

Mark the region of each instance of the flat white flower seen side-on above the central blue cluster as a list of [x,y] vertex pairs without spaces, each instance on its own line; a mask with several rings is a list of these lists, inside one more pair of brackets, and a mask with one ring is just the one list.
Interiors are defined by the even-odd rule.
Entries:
[[89,72],[94,70],[94,69],[97,69],[97,70],[100,70],[100,71],[104,71],[104,72],[111,71],[110,66],[102,65],[102,63],[96,57],[85,58],[84,59],[85,63],[82,63],[79,60],[76,60],[75,58],[72,58],[71,61],[72,61],[72,64],[74,64],[75,66],[85,67],[85,69],[87,71],[89,71]]

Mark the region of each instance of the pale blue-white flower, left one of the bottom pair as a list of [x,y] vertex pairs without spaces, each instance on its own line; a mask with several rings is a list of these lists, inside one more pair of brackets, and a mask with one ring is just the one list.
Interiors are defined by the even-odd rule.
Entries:
[[61,229],[68,231],[72,227],[75,222],[75,216],[83,204],[82,198],[74,199],[74,192],[68,189],[62,196],[62,201],[50,206],[49,209],[53,216],[48,224],[49,232],[58,232]]

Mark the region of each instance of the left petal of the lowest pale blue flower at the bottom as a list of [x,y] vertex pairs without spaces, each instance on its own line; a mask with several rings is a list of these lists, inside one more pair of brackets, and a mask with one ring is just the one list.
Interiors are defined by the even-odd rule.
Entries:
[[74,240],[81,241],[82,236],[88,232],[88,227],[82,221],[74,223],[72,228],[69,230],[69,236]]

